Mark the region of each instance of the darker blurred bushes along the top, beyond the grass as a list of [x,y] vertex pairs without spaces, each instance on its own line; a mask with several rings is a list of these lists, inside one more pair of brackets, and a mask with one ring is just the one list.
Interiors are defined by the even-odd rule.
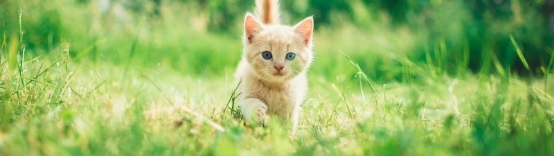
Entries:
[[[188,32],[199,35],[217,33],[236,36],[241,32],[244,13],[253,10],[253,2],[3,0],[0,1],[0,19],[3,33],[19,35],[14,34],[19,32],[17,10],[23,10],[25,18],[21,29],[25,32],[26,48],[32,53],[51,49],[52,45],[61,41],[71,41],[73,46],[82,50],[95,44],[104,34],[114,33],[114,30],[129,31],[129,24],[138,26],[141,19],[146,19],[145,26],[150,30],[166,26],[164,24],[186,24],[195,28],[176,27],[191,29]],[[76,8],[71,10],[66,5]],[[345,24],[355,26],[362,33],[364,30],[379,31],[375,31],[376,28],[387,28],[382,31],[393,32],[407,29],[417,43],[406,49],[388,50],[406,53],[420,62],[429,62],[429,56],[433,56],[431,58],[439,60],[432,63],[445,71],[464,65],[473,71],[540,73],[540,67],[548,67],[548,58],[554,47],[554,0],[283,0],[280,6],[283,21],[289,21],[286,22],[288,24],[314,15],[317,29],[338,30]],[[176,17],[168,18],[168,15]],[[168,22],[175,19],[190,20],[185,23]],[[101,26],[96,26],[97,23]],[[120,28],[123,29],[114,29],[114,26],[122,26]],[[373,35],[370,31],[365,32],[361,35]],[[359,35],[352,34],[350,38],[359,40]],[[531,71],[524,71],[515,46],[510,42],[510,35],[514,35],[524,52]],[[371,60],[357,61],[364,64]]]

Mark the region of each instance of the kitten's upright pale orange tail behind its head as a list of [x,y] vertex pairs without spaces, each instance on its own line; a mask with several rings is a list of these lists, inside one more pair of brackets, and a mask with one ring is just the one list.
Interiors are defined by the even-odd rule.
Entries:
[[279,24],[279,1],[256,0],[256,14],[264,24]]

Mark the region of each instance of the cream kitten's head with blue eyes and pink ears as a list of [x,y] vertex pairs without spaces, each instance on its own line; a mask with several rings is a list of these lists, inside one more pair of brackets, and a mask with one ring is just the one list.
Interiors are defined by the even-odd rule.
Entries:
[[312,62],[313,30],[312,17],[295,26],[282,26],[262,24],[253,15],[247,14],[242,57],[262,80],[289,80],[305,71]]

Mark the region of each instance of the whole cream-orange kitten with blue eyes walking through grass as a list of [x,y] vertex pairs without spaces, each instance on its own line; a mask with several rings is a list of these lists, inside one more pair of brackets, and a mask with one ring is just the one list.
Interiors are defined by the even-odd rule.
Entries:
[[292,124],[294,134],[307,91],[314,19],[280,25],[277,0],[256,1],[256,12],[261,21],[249,13],[244,17],[244,52],[235,73],[242,80],[240,110],[255,123],[277,116]]

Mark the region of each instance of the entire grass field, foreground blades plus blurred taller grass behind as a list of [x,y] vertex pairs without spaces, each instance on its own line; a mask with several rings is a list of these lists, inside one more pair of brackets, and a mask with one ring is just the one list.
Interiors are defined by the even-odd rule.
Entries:
[[[291,137],[276,120],[244,126],[236,112],[240,34],[164,7],[166,19],[110,28],[63,13],[90,6],[60,8],[64,39],[30,50],[21,39],[35,37],[25,30],[33,5],[15,14],[8,23],[21,29],[1,40],[0,155],[554,155],[552,58],[540,76],[494,56],[471,71],[469,54],[406,28],[322,26]],[[409,53],[425,44],[437,45],[425,59]]]

